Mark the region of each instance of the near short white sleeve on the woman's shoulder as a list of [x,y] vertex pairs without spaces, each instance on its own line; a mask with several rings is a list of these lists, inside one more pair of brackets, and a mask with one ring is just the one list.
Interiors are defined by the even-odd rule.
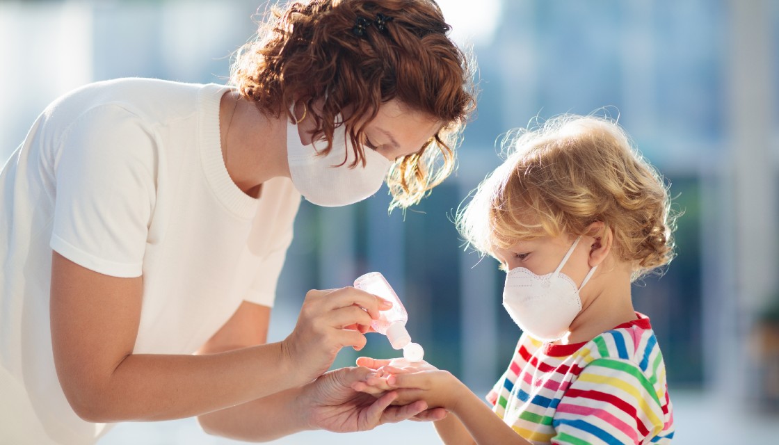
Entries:
[[61,143],[51,249],[100,274],[140,276],[155,201],[152,132],[124,108],[101,105]]

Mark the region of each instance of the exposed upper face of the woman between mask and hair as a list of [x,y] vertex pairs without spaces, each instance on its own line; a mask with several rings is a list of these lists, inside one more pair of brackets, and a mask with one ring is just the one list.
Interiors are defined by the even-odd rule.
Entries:
[[376,150],[390,161],[417,153],[435,133],[442,122],[430,115],[414,111],[397,99],[379,107],[376,117],[365,125],[363,144]]

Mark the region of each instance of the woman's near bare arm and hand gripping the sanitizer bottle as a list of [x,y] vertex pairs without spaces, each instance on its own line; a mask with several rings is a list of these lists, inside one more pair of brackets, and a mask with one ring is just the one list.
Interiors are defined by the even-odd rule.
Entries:
[[379,300],[353,288],[311,291],[282,342],[208,355],[135,355],[142,293],[140,277],[98,274],[54,253],[55,366],[85,420],[180,419],[297,387],[329,368],[343,346],[361,348],[365,336],[343,327],[368,325],[379,313]]

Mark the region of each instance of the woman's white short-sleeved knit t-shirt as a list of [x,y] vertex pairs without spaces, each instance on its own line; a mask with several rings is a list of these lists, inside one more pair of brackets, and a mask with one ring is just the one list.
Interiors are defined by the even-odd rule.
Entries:
[[[59,98],[0,174],[0,443],[94,443],[55,373],[52,249],[143,275],[135,352],[191,354],[242,301],[273,305],[300,195],[247,196],[220,147],[229,87],[117,79]],[[100,301],[94,302],[99,305]]]

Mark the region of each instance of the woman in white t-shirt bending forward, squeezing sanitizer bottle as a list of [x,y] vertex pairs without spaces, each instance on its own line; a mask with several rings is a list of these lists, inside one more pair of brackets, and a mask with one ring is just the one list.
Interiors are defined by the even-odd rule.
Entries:
[[233,87],[87,85],[3,168],[0,442],[193,415],[243,440],[442,415],[355,393],[367,369],[325,373],[365,344],[373,295],[309,291],[292,333],[266,335],[301,195],[347,205],[386,179],[407,207],[448,175],[474,102],[464,56],[431,0],[294,3],[268,26]]

